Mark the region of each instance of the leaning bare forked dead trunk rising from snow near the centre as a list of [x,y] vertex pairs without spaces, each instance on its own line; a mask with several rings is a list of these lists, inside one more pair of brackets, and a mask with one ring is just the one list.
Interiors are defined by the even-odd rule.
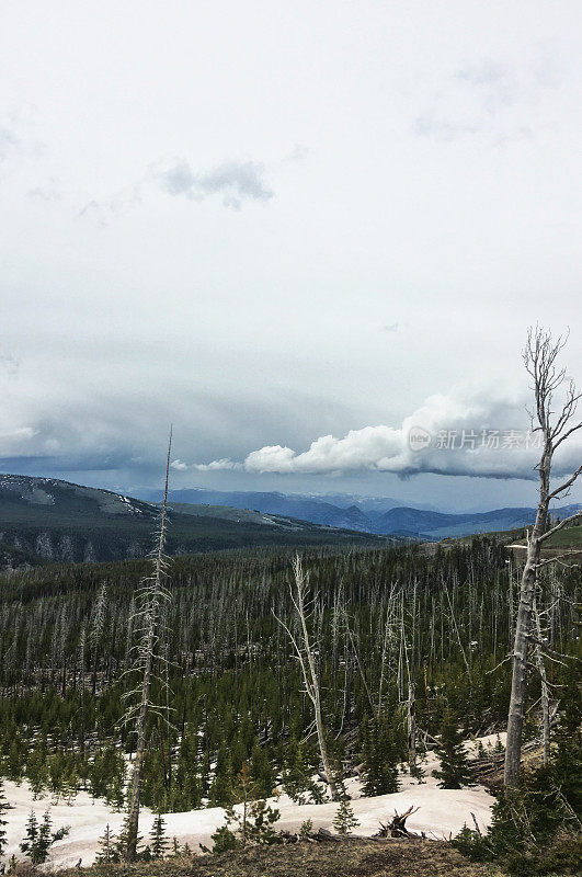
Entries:
[[308,582],[309,577],[304,573],[301,558],[296,555],[293,561],[293,582],[289,585],[289,594],[295,610],[295,620],[297,626],[297,634],[295,634],[281,618],[275,615],[275,618],[281,626],[286,630],[287,636],[292,642],[295,656],[299,661],[301,669],[301,676],[305,690],[311,704],[313,706],[313,714],[316,720],[316,731],[319,744],[319,754],[323,765],[323,773],[326,781],[330,788],[332,801],[340,800],[340,793],[335,785],[333,772],[331,770],[330,761],[328,758],[328,747],[326,743],[326,732],[323,728],[323,719],[321,715],[321,693],[319,687],[319,676],[317,672],[316,658],[313,652],[313,643],[309,636],[308,620],[312,614],[310,606],[317,602],[313,597],[308,601]]

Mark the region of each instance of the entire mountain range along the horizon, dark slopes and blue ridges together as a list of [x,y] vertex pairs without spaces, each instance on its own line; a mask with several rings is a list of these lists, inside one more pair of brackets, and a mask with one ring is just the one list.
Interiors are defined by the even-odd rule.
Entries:
[[[144,557],[161,491],[140,499],[53,478],[0,475],[0,568]],[[517,529],[535,509],[446,514],[365,499],[276,492],[172,490],[168,553],[269,545],[386,545]],[[195,501],[194,501],[195,500]],[[342,504],[335,504],[341,502]],[[580,505],[555,509],[567,516]]]

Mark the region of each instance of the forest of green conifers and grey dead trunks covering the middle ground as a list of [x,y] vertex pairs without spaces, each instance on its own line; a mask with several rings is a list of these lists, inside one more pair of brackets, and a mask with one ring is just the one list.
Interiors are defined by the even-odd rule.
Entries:
[[[292,554],[281,550],[179,557],[170,567],[167,637],[157,657],[144,802],[155,810],[224,805],[248,762],[256,794],[283,777],[318,799],[312,713],[288,637]],[[452,710],[464,733],[502,729],[506,656],[517,577],[488,538],[469,546],[308,550],[322,711],[334,771],[367,764],[374,794],[393,787],[408,758],[407,711],[415,693],[419,756]],[[2,771],[34,787],[77,788],[122,801],[123,725],[134,687],[135,589],[147,561],[53,566],[0,581]],[[577,569],[547,573],[549,647],[577,648]],[[167,659],[167,662],[162,659]],[[552,684],[569,665],[551,663]],[[166,685],[168,683],[168,685]],[[539,731],[539,683],[528,733]],[[132,698],[129,698],[130,701]],[[122,749],[119,749],[119,744]]]

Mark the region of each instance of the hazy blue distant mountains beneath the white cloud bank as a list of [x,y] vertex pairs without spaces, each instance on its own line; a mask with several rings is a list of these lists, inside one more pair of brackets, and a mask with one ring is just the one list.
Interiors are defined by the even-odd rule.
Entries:
[[[159,490],[140,491],[145,498],[158,501]],[[338,494],[341,505],[330,502],[330,497],[285,494],[278,492],[228,492],[204,489],[172,490],[172,502],[194,503],[199,506],[228,506],[254,510],[266,514],[288,515],[329,527],[346,527],[360,533],[408,538],[443,539],[447,536],[470,536],[516,529],[535,520],[536,510],[529,508],[494,509],[490,512],[447,514],[430,508],[413,509],[392,500],[358,498]],[[351,499],[350,503],[345,500]],[[383,506],[383,503],[386,503]],[[555,509],[554,514],[572,514],[578,505]],[[185,511],[185,508],[183,509]]]

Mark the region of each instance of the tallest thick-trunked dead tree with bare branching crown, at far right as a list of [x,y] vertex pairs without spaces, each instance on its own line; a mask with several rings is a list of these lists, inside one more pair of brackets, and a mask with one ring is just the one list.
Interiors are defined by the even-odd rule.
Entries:
[[532,412],[532,421],[536,424],[534,430],[541,435],[541,457],[536,467],[539,476],[537,514],[527,543],[513,641],[512,686],[504,770],[506,786],[514,785],[520,773],[534,594],[538,570],[543,563],[547,562],[540,561],[541,546],[550,536],[582,514],[578,512],[555,526],[548,526],[550,503],[568,496],[569,489],[582,472],[582,466],[579,466],[573,475],[562,481],[559,487],[552,489],[550,486],[554,454],[572,433],[582,428],[582,421],[573,422],[577,405],[582,395],[577,391],[573,380],[567,383],[566,398],[559,415],[556,417],[556,412],[552,410],[555,394],[567,381],[566,371],[557,365],[558,355],[564,344],[566,339],[558,338],[554,341],[549,332],[536,328],[535,331],[529,330],[524,351],[525,367],[533,378],[535,411]]

